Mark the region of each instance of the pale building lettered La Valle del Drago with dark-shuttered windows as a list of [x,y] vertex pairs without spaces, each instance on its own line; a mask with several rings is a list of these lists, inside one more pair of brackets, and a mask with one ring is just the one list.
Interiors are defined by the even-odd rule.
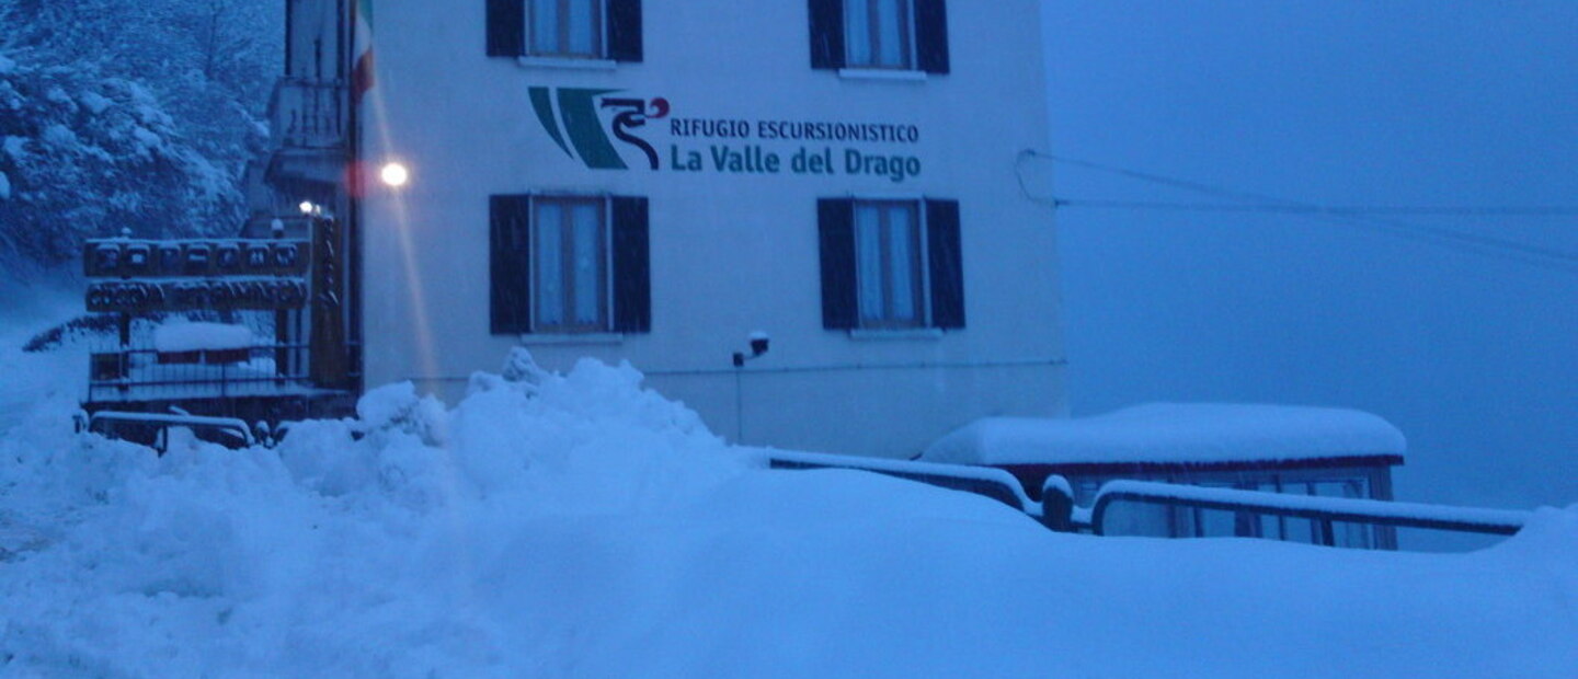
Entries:
[[525,345],[737,441],[914,455],[1065,411],[1038,13],[287,0],[268,181],[346,225],[368,386],[453,400]]

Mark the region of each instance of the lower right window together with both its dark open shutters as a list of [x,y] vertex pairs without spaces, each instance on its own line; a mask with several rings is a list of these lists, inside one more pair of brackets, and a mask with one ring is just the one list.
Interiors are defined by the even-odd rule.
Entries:
[[955,200],[817,200],[822,326],[964,328]]

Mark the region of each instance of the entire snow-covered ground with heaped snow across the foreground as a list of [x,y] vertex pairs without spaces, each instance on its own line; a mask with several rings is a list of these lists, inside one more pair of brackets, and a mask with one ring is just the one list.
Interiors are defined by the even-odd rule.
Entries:
[[593,362],[161,458],[5,339],[0,676],[1578,676],[1578,506],[1469,555],[1053,534]]

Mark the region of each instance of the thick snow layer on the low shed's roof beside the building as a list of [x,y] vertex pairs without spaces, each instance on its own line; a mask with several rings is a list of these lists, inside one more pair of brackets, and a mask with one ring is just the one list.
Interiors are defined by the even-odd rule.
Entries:
[[1149,403],[1078,419],[986,417],[922,460],[964,465],[1234,463],[1403,455],[1403,432],[1343,408]]

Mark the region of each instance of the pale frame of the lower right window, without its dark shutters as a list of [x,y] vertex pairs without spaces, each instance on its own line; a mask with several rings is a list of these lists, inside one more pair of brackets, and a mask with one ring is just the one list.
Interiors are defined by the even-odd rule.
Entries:
[[[868,318],[866,304],[863,301],[865,291],[865,276],[862,271],[863,255],[863,239],[860,238],[860,211],[862,208],[877,208],[877,233],[882,243],[882,314],[877,318]],[[895,206],[907,208],[911,213],[911,235],[912,235],[912,266],[911,280],[915,285],[914,290],[914,317],[898,318],[893,310],[893,293],[892,293],[892,258],[893,249],[890,246],[890,230],[887,228],[888,210]],[[912,332],[925,331],[931,328],[931,252],[928,250],[926,238],[926,210],[922,200],[912,199],[854,199],[851,208],[851,225],[855,238],[855,328],[860,331],[877,331],[877,332]]]

